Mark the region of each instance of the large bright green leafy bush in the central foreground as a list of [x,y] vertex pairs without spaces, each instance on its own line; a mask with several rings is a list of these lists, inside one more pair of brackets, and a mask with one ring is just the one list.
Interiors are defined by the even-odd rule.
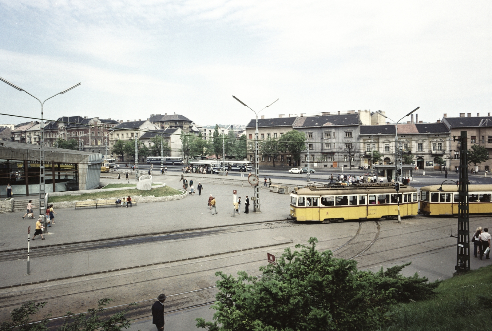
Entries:
[[212,306],[214,322],[196,319],[210,331],[372,330],[386,321],[392,304],[429,298],[439,282],[428,283],[415,273],[404,277],[406,265],[373,273],[357,269],[357,262],[333,258],[329,250],[296,245],[260,267],[263,277],[245,271],[232,275],[216,272],[218,293]]

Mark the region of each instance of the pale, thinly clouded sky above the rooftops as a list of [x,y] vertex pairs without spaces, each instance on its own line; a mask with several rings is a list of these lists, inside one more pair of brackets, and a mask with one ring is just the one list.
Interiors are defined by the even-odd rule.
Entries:
[[[0,0],[0,77],[44,118],[491,112],[491,1]],[[0,113],[40,104],[0,81]],[[1,123],[26,119],[0,115]]]

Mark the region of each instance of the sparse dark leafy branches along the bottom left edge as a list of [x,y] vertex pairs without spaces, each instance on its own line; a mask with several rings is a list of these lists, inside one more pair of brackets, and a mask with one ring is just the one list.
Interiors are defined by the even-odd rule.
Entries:
[[[112,299],[104,298],[97,302],[97,308],[90,308],[87,313],[76,315],[72,312],[65,314],[65,320],[57,331],[121,331],[128,329],[131,321],[126,318],[126,313],[130,306],[136,303],[130,303],[123,310],[107,316],[104,308]],[[48,331],[47,324],[50,315],[43,318],[38,323],[32,323],[31,315],[35,315],[42,309],[47,302],[34,303],[29,301],[15,308],[10,313],[11,322],[4,321],[0,324],[0,331]]]

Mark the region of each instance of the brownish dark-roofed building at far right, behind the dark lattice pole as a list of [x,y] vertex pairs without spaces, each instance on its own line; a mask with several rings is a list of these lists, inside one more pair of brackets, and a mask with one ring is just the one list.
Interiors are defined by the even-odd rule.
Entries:
[[[471,113],[460,113],[460,117],[447,117],[444,114],[442,123],[450,130],[449,139],[450,143],[450,155],[449,155],[449,169],[456,170],[460,166],[460,144],[458,141],[453,141],[453,136],[460,136],[461,131],[467,132],[468,137],[468,149],[472,145],[477,144],[485,147],[489,151],[489,158],[492,157],[492,117],[491,113],[488,116],[471,116]],[[490,171],[492,167],[492,159],[489,159],[481,164],[477,164],[474,169],[477,171]],[[471,168],[471,166],[470,166]]]

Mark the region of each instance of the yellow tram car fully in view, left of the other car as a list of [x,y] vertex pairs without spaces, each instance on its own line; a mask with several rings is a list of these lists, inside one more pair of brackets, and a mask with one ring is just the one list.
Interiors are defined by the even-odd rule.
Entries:
[[346,187],[308,186],[290,195],[290,216],[298,221],[336,222],[398,215],[417,215],[417,190],[394,184],[360,184]]

